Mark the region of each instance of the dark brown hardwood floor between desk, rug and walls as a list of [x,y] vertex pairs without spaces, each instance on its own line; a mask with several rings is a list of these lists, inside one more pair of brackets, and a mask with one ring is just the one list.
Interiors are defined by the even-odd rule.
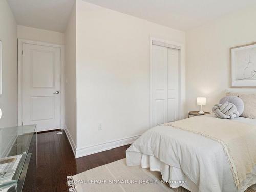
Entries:
[[[66,134],[59,131],[37,134],[37,168],[36,191],[62,192],[68,191],[66,177],[86,170],[125,158],[125,150],[130,146],[122,146],[75,159]],[[35,150],[35,149],[34,149]],[[24,191],[32,191],[30,180],[34,177],[33,168],[29,167]]]

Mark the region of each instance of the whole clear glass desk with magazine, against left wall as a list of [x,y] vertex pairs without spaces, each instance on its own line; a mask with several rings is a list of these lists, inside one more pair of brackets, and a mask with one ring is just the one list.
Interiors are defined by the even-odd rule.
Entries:
[[[30,174],[36,176],[37,137],[35,129],[36,125],[6,127],[0,129],[1,192],[23,191],[23,185],[29,166],[30,169],[35,172]],[[33,162],[30,162],[31,159],[33,159]],[[33,185],[35,185],[35,183]]]

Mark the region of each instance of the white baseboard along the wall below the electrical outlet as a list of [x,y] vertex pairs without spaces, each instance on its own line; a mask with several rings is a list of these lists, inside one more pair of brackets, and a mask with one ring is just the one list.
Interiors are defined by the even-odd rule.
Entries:
[[111,150],[112,148],[124,146],[127,144],[131,144],[139,137],[140,135],[136,135],[133,137],[127,137],[124,139],[119,139],[119,140],[105,142],[105,143],[101,143],[93,146],[79,148],[76,150],[76,158],[86,156],[86,155],[91,155],[91,154],[106,151],[106,150]]

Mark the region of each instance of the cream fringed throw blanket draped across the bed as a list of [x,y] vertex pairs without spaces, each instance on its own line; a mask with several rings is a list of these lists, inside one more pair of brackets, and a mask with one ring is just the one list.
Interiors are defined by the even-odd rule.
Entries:
[[246,174],[250,174],[256,164],[254,125],[207,116],[187,118],[165,125],[200,134],[221,143],[237,188],[240,188]]

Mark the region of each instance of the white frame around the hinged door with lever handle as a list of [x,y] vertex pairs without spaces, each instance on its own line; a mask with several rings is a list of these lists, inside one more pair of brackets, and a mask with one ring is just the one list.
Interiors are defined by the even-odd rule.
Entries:
[[64,129],[65,124],[65,80],[64,80],[64,45],[59,44],[50,44],[48,42],[40,42],[33,41],[27,39],[19,39],[18,38],[18,126],[22,126],[23,123],[23,44],[32,44],[32,45],[40,45],[40,46],[50,46],[55,48],[60,48],[60,129]]

